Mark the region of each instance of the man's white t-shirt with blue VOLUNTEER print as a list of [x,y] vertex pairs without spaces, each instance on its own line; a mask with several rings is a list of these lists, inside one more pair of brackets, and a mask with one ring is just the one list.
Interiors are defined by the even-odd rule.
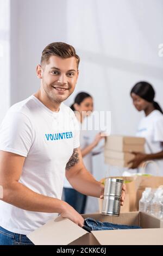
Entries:
[[[26,157],[19,182],[36,193],[61,199],[65,166],[79,147],[73,111],[52,112],[34,95],[13,105],[0,127],[0,150]],[[0,226],[27,235],[58,214],[33,212],[0,201]]]

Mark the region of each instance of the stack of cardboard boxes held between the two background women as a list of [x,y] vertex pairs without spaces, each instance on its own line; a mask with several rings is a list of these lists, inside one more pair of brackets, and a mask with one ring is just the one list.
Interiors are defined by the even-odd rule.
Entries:
[[128,167],[134,159],[132,152],[144,152],[145,138],[128,136],[109,136],[105,142],[105,163],[112,166]]

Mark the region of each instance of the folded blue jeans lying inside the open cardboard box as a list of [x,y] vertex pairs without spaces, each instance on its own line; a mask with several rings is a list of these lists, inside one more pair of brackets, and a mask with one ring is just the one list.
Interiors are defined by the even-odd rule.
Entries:
[[95,221],[93,218],[86,218],[84,220],[84,225],[90,230],[112,230],[112,229],[138,229],[139,226],[113,224],[110,222]]

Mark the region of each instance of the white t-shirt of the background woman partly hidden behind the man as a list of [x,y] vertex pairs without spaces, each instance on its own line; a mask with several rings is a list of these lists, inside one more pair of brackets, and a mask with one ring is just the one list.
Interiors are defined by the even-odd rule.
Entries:
[[[79,122],[79,127],[80,127],[80,125],[81,124]],[[91,131],[80,129],[80,149],[81,150],[85,149],[91,143],[90,132]],[[92,151],[83,157],[83,163],[84,163],[84,166],[86,167],[86,169],[90,173],[92,173]],[[70,183],[68,182],[68,180],[66,178],[64,181],[64,187],[72,188],[72,186],[70,185]]]

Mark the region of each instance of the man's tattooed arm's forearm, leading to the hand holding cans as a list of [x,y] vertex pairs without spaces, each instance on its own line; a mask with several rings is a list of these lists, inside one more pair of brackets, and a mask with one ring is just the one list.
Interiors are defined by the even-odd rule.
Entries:
[[68,181],[75,190],[87,196],[99,198],[101,195],[103,185],[95,180],[85,168],[79,170],[79,172]]

